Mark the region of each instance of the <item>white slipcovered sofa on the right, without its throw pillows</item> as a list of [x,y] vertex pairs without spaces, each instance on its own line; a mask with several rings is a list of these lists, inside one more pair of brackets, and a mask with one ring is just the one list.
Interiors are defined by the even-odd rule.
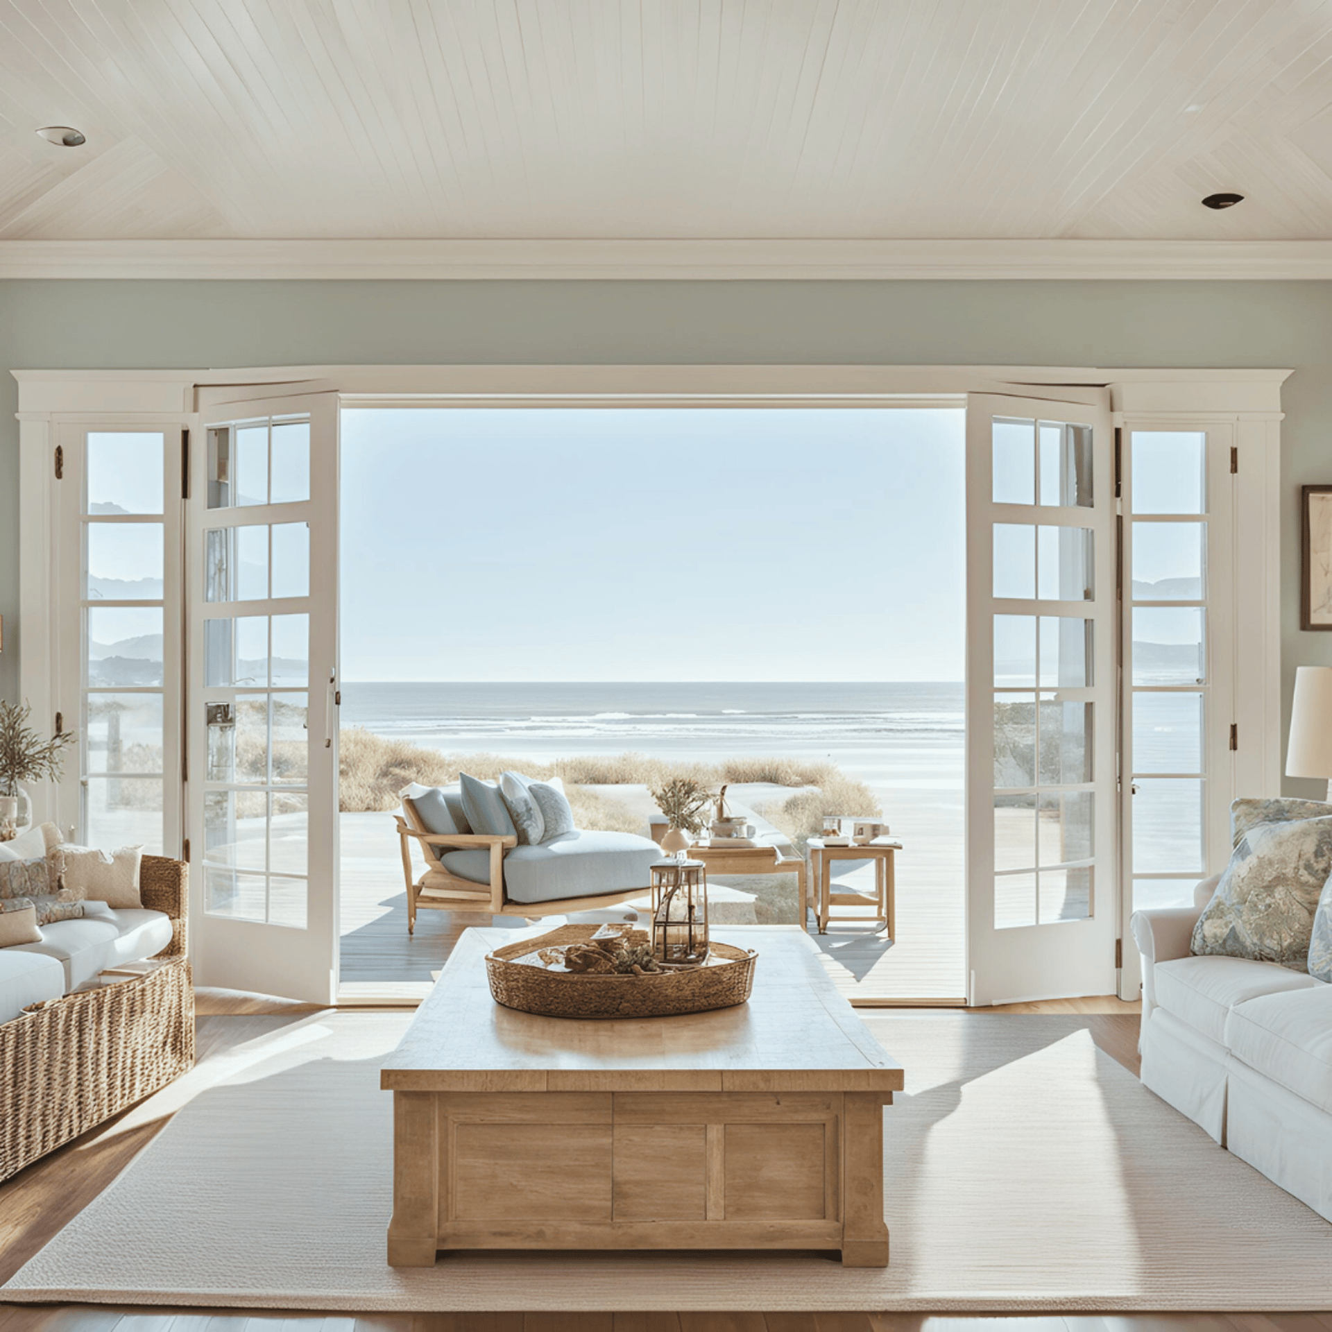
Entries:
[[1244,958],[1189,955],[1192,907],[1139,911],[1143,1083],[1332,1221],[1332,986]]

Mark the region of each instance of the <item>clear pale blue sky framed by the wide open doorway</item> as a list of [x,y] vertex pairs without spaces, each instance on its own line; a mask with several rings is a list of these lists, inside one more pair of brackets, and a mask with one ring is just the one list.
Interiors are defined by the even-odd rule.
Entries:
[[342,413],[348,681],[960,681],[964,417]]

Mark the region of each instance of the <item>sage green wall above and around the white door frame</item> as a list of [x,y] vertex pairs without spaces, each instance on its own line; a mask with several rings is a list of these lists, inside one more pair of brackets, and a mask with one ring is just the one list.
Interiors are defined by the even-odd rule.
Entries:
[[[1287,366],[1281,650],[1297,496],[1332,482],[1329,282],[0,282],[0,369],[329,362]],[[0,697],[17,686],[17,402],[0,376]],[[1316,783],[1288,783],[1317,794]]]

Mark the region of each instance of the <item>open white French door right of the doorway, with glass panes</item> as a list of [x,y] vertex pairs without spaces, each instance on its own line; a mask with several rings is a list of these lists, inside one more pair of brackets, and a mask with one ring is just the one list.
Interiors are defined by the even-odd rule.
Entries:
[[974,1004],[1115,990],[1114,436],[1068,396],[967,398]]

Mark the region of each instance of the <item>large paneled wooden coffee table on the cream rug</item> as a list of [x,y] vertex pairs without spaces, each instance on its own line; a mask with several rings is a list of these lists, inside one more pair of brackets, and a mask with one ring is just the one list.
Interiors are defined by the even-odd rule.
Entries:
[[[537,926],[535,938],[547,927]],[[902,1068],[797,926],[731,927],[747,1004],[571,1022],[500,1007],[466,930],[380,1086],[389,1263],[438,1249],[839,1249],[883,1267],[883,1107]]]

